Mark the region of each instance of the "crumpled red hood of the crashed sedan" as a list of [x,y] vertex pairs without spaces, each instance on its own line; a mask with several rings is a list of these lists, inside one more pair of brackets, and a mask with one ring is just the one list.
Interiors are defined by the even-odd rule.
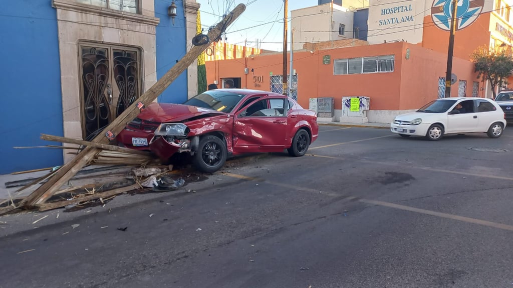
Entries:
[[226,114],[215,110],[170,103],[152,103],[144,109],[140,119],[152,122],[178,122],[206,114]]

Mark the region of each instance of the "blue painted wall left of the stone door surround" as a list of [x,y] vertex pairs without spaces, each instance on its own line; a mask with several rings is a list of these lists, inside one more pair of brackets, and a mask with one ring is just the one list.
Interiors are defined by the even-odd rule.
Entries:
[[[15,0],[0,15],[0,174],[62,164],[40,133],[63,135],[57,15],[51,0]],[[4,16],[8,15],[8,16]]]

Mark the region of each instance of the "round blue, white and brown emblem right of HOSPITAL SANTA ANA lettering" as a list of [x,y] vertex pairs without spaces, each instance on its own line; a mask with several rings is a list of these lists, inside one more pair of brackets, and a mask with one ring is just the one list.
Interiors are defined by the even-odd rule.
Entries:
[[[476,21],[483,11],[484,2],[485,0],[458,0],[456,30],[465,29]],[[433,1],[433,5],[431,6],[431,18],[438,28],[449,31],[451,17],[451,0]]]

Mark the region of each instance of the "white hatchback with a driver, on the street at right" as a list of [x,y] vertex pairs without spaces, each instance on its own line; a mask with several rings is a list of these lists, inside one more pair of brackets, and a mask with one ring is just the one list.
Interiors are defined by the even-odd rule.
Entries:
[[402,137],[425,136],[436,141],[445,134],[487,133],[498,138],[506,127],[505,114],[493,100],[477,97],[440,98],[397,116],[390,130]]

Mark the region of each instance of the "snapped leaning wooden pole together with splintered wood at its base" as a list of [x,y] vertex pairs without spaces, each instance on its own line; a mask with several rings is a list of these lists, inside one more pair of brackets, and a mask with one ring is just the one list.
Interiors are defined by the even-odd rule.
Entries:
[[[131,184],[121,188],[115,188],[113,190],[104,191],[100,193],[90,193],[90,195],[83,196],[76,199],[60,201],[59,204],[50,205],[53,203],[46,203],[49,199],[54,197],[56,194],[62,192],[63,187],[82,170],[82,168],[91,164],[124,164],[124,165],[149,165],[154,164],[156,160],[148,152],[131,150],[128,148],[117,147],[110,145],[111,141],[115,139],[115,136],[120,133],[126,125],[132,121],[142,110],[145,109],[145,105],[150,104],[157,96],[162,94],[169,85],[182,74],[187,67],[189,67],[198,56],[208,48],[208,46],[219,40],[221,34],[232,24],[241,14],[246,10],[244,4],[237,5],[230,13],[224,16],[220,23],[209,29],[208,35],[197,35],[193,39],[193,46],[185,56],[177,61],[173,67],[166,72],[156,83],[150,87],[143,95],[137,98],[126,110],[115,118],[103,131],[98,134],[92,141],[83,141],[77,139],[70,139],[52,135],[42,135],[42,139],[49,141],[57,141],[74,145],[81,145],[85,148],[76,154],[76,156],[64,166],[59,169],[52,170],[47,175],[42,176],[34,180],[31,183],[26,184],[24,189],[28,189],[36,184],[41,184],[40,187],[35,189],[30,195],[23,198],[21,201],[16,203],[13,208],[9,208],[7,211],[0,211],[2,213],[9,213],[12,210],[18,208],[38,208],[40,210],[53,209],[62,207],[62,204],[66,201],[82,202],[85,200],[99,199],[103,197],[110,197],[119,193],[123,193],[129,190],[138,188],[136,184]],[[53,147],[55,148],[55,147]],[[64,149],[69,149],[66,147]],[[76,148],[74,148],[76,149]],[[161,183],[169,183],[169,180],[161,181]],[[171,185],[172,186],[172,185]],[[140,188],[140,186],[139,186]],[[69,187],[64,188],[69,189]],[[103,194],[102,194],[103,193]],[[70,203],[70,202],[66,202]],[[67,205],[67,204],[65,204]]]

